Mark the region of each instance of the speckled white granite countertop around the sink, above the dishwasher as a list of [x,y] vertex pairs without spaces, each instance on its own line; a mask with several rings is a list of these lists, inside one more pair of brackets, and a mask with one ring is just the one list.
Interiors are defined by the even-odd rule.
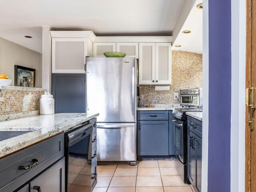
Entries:
[[98,113],[59,113],[0,122],[0,131],[32,131],[0,141],[0,158],[97,116]]

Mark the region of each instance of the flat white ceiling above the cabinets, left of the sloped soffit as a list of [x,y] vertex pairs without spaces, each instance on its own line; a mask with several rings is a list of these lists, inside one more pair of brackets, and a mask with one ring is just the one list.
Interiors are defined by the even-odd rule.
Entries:
[[[42,52],[42,26],[97,36],[171,35],[184,0],[0,0],[0,37]],[[32,39],[24,38],[25,35]]]

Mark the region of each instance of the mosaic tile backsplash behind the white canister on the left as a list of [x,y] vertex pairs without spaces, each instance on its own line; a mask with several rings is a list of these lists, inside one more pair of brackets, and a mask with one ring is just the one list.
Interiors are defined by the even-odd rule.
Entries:
[[44,91],[1,89],[0,115],[39,110]]

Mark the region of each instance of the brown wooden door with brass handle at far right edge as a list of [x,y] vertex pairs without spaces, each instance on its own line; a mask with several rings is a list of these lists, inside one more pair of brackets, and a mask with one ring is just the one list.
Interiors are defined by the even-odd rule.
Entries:
[[[256,0],[247,0],[246,6],[246,154],[245,191],[256,191]],[[254,113],[254,114],[253,114]]]

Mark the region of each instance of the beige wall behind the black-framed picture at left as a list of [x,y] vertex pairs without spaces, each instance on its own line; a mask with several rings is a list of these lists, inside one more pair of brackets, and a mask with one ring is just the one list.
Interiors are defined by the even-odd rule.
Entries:
[[42,54],[0,38],[0,74],[6,74],[14,86],[14,65],[36,69],[36,85],[42,87]]

